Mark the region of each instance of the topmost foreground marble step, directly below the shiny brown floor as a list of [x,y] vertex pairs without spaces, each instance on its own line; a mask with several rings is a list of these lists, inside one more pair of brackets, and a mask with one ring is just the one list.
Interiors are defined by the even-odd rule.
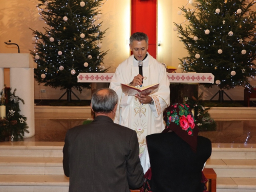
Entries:
[[[0,157],[62,157],[64,142],[0,142]],[[256,144],[212,144],[210,159],[256,159]]]

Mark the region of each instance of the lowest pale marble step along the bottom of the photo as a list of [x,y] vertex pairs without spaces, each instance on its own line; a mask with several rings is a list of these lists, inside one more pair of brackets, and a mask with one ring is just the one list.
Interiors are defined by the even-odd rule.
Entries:
[[[58,175],[0,175],[0,191],[68,192],[69,178]],[[256,178],[217,178],[217,192],[255,192]]]

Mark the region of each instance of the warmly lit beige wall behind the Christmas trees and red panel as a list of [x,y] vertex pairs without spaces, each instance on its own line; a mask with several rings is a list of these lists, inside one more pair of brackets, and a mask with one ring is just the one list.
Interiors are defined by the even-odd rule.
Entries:
[[[178,7],[186,5],[187,2],[187,0],[158,0],[158,41],[161,45],[157,49],[157,58],[160,62],[176,68],[180,62],[178,58],[184,57],[186,50],[182,42],[179,41],[177,32],[173,31],[173,22],[184,22],[185,18],[178,15],[177,12],[179,11]],[[4,44],[4,41],[8,40],[19,45],[20,53],[30,53],[29,49],[34,50],[31,40],[32,32],[29,27],[44,32],[42,27],[46,26],[43,21],[38,19],[37,3],[37,0],[0,1],[0,53],[17,53],[16,46]],[[104,63],[105,67],[111,67],[109,72],[115,72],[119,63],[130,54],[130,0],[108,0],[100,9],[103,21],[101,29],[109,28],[102,41],[102,50],[109,50],[104,57]],[[177,72],[181,72],[181,70],[178,69]],[[6,69],[5,83],[7,86],[9,86],[8,73],[9,71]],[[256,84],[256,81],[253,83]],[[45,89],[46,93],[40,93],[40,89]],[[216,90],[200,89],[205,92],[205,99],[209,99]],[[64,92],[44,87],[42,84],[38,86],[35,81],[35,99],[58,99]],[[90,99],[91,97],[90,90],[83,90],[82,94],[74,92],[80,99]],[[243,88],[230,90],[228,93],[235,100],[243,100]]]

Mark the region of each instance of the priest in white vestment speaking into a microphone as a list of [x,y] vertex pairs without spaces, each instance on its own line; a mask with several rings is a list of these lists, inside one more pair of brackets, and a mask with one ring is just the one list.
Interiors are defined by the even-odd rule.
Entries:
[[[146,146],[145,137],[161,133],[165,128],[162,114],[169,105],[169,80],[166,66],[147,52],[146,34],[134,33],[130,37],[130,48],[133,55],[117,67],[110,88],[116,91],[119,98],[114,122],[137,132],[141,155]],[[139,74],[138,60],[143,62],[143,77]],[[121,83],[135,87],[159,83],[159,89],[148,96],[128,96],[122,93]]]

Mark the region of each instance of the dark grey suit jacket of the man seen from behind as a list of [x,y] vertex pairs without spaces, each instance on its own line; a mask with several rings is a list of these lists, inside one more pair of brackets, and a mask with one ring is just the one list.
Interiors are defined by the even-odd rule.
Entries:
[[139,143],[135,131],[106,116],[67,132],[63,169],[69,191],[129,192],[143,184]]

